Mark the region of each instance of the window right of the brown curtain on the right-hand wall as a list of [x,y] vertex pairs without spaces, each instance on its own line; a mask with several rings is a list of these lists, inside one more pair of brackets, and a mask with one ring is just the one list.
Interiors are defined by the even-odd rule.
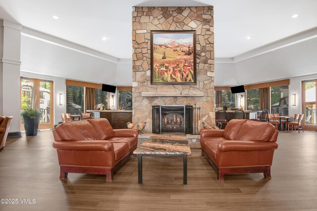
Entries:
[[271,113],[288,116],[288,85],[271,87]]

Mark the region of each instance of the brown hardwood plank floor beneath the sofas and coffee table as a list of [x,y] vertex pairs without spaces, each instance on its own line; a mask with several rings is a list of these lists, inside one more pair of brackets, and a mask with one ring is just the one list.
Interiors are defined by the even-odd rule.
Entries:
[[[143,159],[138,184],[137,158],[106,182],[103,175],[69,173],[59,179],[52,131],[35,137],[8,138],[0,150],[0,210],[317,210],[317,132],[280,132],[271,168],[263,173],[225,175],[224,182],[200,150],[188,156],[188,184],[182,158]],[[20,199],[35,199],[21,204]]]

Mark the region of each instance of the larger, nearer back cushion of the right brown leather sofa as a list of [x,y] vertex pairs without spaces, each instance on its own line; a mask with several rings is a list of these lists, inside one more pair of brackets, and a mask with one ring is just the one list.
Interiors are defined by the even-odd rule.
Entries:
[[267,141],[274,131],[275,127],[269,123],[248,121],[243,124],[234,140]]

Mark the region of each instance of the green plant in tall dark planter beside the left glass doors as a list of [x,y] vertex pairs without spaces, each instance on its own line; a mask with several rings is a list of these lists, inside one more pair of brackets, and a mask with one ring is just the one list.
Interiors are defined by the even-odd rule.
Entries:
[[22,99],[22,110],[21,117],[24,122],[25,134],[29,135],[37,135],[40,117],[42,116],[42,112],[35,108],[36,96],[33,98],[34,87],[32,87],[32,91],[30,95],[24,95],[25,99]]

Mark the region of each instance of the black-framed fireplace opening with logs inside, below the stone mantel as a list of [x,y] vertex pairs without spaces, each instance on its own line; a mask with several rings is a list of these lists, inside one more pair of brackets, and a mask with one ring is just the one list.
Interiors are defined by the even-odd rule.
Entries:
[[152,132],[187,134],[193,132],[193,106],[152,106]]

